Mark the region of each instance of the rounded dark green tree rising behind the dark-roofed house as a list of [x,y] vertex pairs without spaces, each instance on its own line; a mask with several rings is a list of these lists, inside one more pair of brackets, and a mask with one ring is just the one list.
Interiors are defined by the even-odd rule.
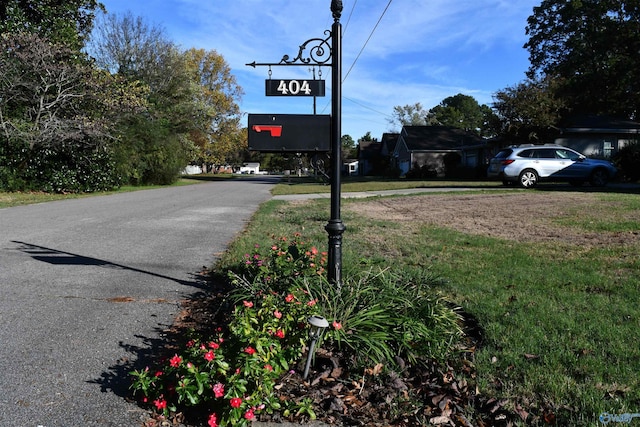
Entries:
[[496,116],[491,108],[461,93],[445,98],[430,109],[426,119],[428,125],[452,126],[485,137],[495,136],[497,130]]

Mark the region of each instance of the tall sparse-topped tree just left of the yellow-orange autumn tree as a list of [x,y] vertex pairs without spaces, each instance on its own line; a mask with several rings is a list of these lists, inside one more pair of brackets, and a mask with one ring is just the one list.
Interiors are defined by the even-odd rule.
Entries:
[[130,13],[102,19],[88,50],[99,67],[147,95],[144,114],[117,123],[119,169],[133,184],[174,182],[195,152],[197,87],[186,57],[161,28]]

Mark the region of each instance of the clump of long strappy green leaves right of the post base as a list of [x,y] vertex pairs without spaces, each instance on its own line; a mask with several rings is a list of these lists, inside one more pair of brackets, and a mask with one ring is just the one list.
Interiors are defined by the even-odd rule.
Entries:
[[331,324],[324,345],[365,367],[393,366],[398,357],[444,362],[452,355],[464,335],[462,319],[437,296],[436,284],[428,274],[385,269],[347,275],[341,287],[317,280],[308,287]]

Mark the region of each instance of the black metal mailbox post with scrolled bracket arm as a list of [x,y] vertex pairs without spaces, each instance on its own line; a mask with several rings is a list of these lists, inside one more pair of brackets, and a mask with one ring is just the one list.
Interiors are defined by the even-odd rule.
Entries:
[[[290,59],[284,55],[278,63],[256,63],[247,64],[251,67],[257,66],[310,66],[310,65],[330,65],[331,66],[331,217],[325,226],[329,235],[328,251],[328,276],[329,281],[337,286],[342,285],[342,234],[346,230],[340,218],[340,199],[342,173],[342,1],[331,1],[331,13],[333,15],[333,25],[331,31],[325,31],[327,38],[314,38],[307,40],[300,46],[298,56]],[[329,44],[331,40],[331,44]],[[304,57],[304,51],[310,47],[309,53]],[[331,62],[329,62],[331,61]],[[295,95],[308,95],[301,92],[301,87],[297,83],[286,83],[280,87],[281,91],[297,92]],[[267,83],[268,84],[268,83]],[[291,85],[291,87],[289,87]],[[278,83],[280,86],[280,83]],[[277,87],[276,87],[277,91]],[[285,95],[285,94],[283,94]],[[286,94],[290,95],[290,93]]]

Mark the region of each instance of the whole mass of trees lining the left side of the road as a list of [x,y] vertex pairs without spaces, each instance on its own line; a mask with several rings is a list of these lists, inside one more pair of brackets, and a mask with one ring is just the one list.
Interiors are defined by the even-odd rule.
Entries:
[[224,58],[131,14],[94,22],[102,8],[0,3],[0,188],[166,184],[194,161],[240,163],[242,89]]

